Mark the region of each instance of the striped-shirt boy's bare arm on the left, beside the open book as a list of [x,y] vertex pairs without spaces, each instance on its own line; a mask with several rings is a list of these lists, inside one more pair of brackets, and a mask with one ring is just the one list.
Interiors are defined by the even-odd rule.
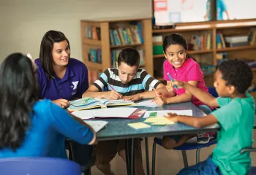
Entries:
[[123,96],[116,92],[115,90],[110,90],[107,92],[99,92],[99,89],[95,85],[91,85],[85,93],[83,93],[84,97],[92,97],[92,98],[105,98],[105,99],[121,99]]

